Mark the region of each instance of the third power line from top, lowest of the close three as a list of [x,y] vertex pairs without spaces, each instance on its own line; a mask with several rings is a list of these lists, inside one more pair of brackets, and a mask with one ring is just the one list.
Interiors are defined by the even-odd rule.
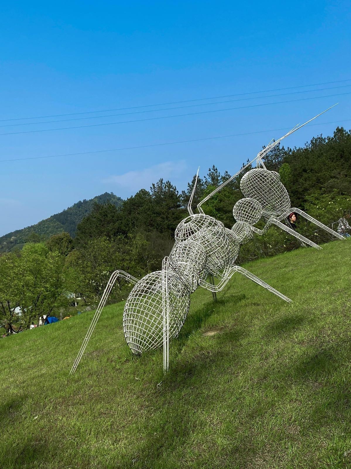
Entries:
[[319,98],[331,98],[334,96],[344,96],[346,94],[351,94],[351,92],[348,93],[336,93],[336,94],[329,94],[325,96],[314,96],[312,98],[300,98],[300,99],[292,99],[288,101],[277,101],[275,103],[263,103],[263,104],[253,104],[250,106],[241,106],[241,107],[227,107],[225,109],[213,109],[211,111],[199,111],[197,113],[185,113],[185,114],[176,114],[176,115],[171,115],[171,116],[159,116],[159,117],[149,117],[147,119],[135,119],[133,121],[119,121],[119,122],[106,122],[103,124],[90,124],[90,125],[79,125],[75,127],[59,127],[57,129],[40,129],[40,130],[23,130],[21,132],[6,132],[1,135],[18,135],[18,134],[31,134],[31,133],[37,133],[37,132],[51,132],[54,130],[68,130],[68,129],[86,129],[89,127],[101,127],[103,125],[117,125],[117,124],[128,124],[131,122],[145,122],[145,121],[156,121],[160,119],[171,119],[173,117],[184,117],[184,116],[192,116],[196,114],[208,114],[208,113],[218,113],[221,111],[233,111],[236,109],[247,109],[249,107],[260,107],[260,106],[271,106],[274,104],[285,104],[285,103],[295,103],[298,101],[306,101],[307,99],[319,99]]

